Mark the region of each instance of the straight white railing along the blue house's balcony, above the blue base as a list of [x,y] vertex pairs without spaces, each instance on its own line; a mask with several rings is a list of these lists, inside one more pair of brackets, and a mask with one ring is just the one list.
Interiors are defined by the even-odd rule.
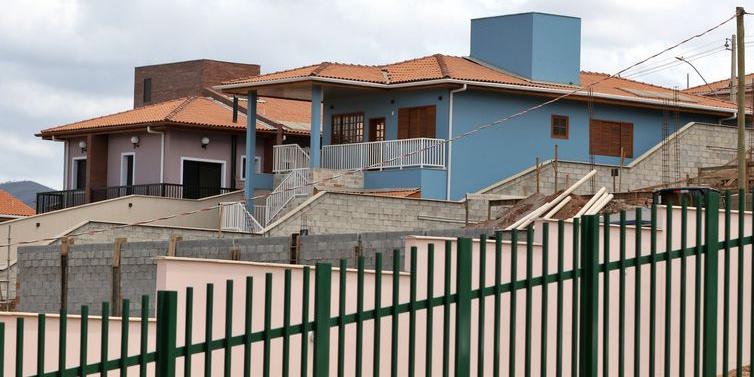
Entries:
[[382,170],[416,166],[445,167],[445,140],[417,138],[322,148],[322,167],[328,169]]

